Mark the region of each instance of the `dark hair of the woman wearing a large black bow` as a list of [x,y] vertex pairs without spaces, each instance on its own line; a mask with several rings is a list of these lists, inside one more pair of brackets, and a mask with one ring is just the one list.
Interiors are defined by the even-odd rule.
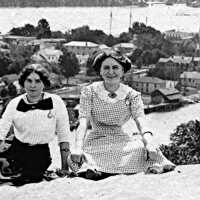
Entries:
[[50,87],[51,82],[49,80],[49,72],[40,63],[28,64],[24,67],[24,69],[19,75],[19,84],[22,87],[24,87],[24,82],[27,79],[27,77],[33,72],[39,75],[45,87]]

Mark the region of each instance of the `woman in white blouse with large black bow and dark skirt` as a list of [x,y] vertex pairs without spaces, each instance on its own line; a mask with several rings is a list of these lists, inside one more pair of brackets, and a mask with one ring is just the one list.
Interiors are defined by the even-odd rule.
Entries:
[[10,149],[0,156],[5,156],[20,170],[21,176],[17,181],[40,181],[51,164],[48,144],[57,136],[61,172],[68,174],[68,112],[59,96],[43,91],[50,86],[48,71],[41,64],[30,64],[20,74],[19,84],[25,93],[9,102],[0,120],[1,143],[11,126],[14,128],[14,139]]

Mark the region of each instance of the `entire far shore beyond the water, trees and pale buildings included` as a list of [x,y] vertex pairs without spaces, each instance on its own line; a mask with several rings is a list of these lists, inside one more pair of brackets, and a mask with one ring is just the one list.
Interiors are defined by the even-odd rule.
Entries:
[[185,3],[191,7],[200,6],[200,0],[1,0],[0,7],[148,6],[152,3]]

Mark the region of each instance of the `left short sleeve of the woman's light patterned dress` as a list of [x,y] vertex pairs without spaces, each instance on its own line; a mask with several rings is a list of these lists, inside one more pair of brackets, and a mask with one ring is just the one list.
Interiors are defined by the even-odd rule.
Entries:
[[92,102],[91,87],[86,86],[81,91],[79,119],[84,117],[89,119],[91,115],[91,102]]

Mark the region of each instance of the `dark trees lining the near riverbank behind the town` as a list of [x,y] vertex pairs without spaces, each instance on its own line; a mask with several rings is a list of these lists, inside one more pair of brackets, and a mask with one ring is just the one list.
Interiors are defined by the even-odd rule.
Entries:
[[[40,19],[36,27],[31,24],[26,24],[23,27],[11,29],[9,33],[18,36],[35,36],[38,39],[64,38],[66,42],[89,41],[97,44],[106,44],[110,47],[118,43],[133,42],[137,48],[130,52],[128,56],[132,63],[138,67],[156,64],[160,58],[167,58],[172,55],[195,56],[196,44],[199,42],[199,36],[196,34],[190,40],[183,40],[177,46],[166,39],[160,31],[139,22],[134,22],[128,32],[123,32],[118,37],[107,35],[102,30],[91,30],[89,26],[78,27],[65,33],[51,31],[46,19]],[[17,67],[14,67],[14,69],[17,69]],[[171,71],[168,73],[156,68],[150,71],[150,73],[149,75],[162,79],[172,78],[169,75]],[[93,74],[89,60],[87,63],[87,74]]]

